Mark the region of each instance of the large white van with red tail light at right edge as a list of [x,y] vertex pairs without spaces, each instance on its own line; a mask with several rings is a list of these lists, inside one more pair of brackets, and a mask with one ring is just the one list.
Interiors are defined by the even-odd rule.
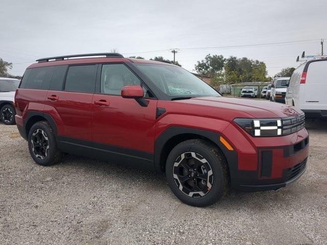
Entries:
[[286,104],[309,118],[327,117],[327,59],[310,60],[297,67],[286,92]]

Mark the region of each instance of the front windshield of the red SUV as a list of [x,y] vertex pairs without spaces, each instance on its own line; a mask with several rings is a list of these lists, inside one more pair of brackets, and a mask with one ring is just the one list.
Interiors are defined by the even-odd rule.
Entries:
[[215,89],[191,72],[172,65],[135,64],[162,92],[171,99],[185,96],[221,96]]

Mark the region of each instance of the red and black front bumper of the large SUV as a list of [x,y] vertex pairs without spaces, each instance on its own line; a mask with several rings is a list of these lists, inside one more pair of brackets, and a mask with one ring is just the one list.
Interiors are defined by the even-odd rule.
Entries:
[[233,189],[279,189],[296,181],[306,170],[309,134],[305,128],[285,136],[251,137],[230,125],[223,133],[229,142],[236,142],[236,162],[226,157]]

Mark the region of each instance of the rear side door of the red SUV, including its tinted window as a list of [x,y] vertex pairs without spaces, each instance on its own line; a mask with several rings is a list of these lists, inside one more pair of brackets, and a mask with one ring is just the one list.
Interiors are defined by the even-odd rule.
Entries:
[[[46,95],[48,107],[57,122],[59,140],[67,145],[91,146],[91,103],[98,64],[70,65],[63,85],[51,84]],[[61,87],[60,87],[61,86]]]

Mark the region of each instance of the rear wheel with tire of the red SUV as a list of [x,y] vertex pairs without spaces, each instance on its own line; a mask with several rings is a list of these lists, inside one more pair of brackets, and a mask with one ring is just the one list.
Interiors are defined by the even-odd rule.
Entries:
[[60,161],[62,153],[57,150],[57,141],[48,121],[36,122],[30,129],[28,145],[33,160],[49,166]]

